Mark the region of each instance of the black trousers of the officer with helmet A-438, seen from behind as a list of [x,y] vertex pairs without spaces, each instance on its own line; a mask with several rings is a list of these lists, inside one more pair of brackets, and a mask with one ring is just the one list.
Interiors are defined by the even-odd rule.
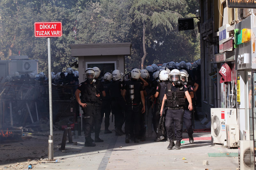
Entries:
[[112,114],[115,115],[115,128],[122,129],[124,124],[124,113],[122,108],[122,101],[112,100],[111,101]]

